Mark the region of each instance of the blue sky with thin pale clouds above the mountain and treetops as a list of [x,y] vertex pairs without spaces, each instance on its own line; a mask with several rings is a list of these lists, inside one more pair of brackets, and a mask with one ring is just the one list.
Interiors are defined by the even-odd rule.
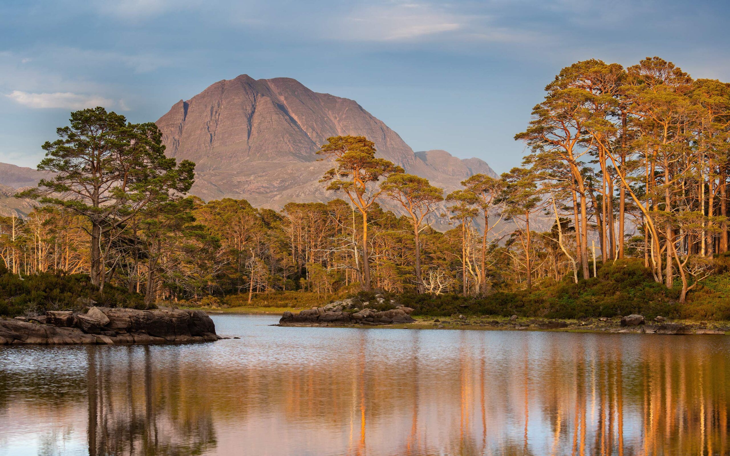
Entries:
[[239,74],[353,98],[414,150],[520,163],[559,70],[659,55],[730,81],[727,1],[0,2],[0,161],[35,166],[69,111],[157,120]]

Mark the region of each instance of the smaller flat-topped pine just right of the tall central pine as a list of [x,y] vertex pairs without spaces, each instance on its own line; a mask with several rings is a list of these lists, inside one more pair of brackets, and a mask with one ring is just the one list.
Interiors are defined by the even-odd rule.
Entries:
[[442,188],[434,187],[429,179],[412,174],[393,174],[382,185],[382,190],[393,201],[398,201],[408,212],[408,222],[413,227],[415,241],[415,279],[418,293],[423,293],[423,277],[420,266],[420,232],[426,228],[423,220],[436,209],[436,205],[444,201]]

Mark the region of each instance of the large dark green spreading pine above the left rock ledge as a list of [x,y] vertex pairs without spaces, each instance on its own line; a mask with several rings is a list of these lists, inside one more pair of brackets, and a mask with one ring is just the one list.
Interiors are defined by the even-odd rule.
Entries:
[[154,123],[127,123],[123,115],[102,107],[72,112],[71,125],[56,133],[60,139],[43,144],[46,156],[38,165],[39,171],[55,177],[18,196],[39,198],[88,218],[91,282],[103,290],[107,250],[102,239],[111,239],[150,201],[190,190],[195,163],[183,160],[178,165],[166,158]]

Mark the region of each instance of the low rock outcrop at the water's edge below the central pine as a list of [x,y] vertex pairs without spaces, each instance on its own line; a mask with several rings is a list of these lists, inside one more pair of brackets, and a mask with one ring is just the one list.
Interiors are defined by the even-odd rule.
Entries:
[[[368,303],[363,303],[366,306]],[[396,306],[395,309],[378,312],[374,309],[358,309],[356,301],[345,299],[334,301],[323,307],[312,307],[294,314],[284,312],[280,326],[329,326],[329,325],[389,325],[415,322],[410,307]]]

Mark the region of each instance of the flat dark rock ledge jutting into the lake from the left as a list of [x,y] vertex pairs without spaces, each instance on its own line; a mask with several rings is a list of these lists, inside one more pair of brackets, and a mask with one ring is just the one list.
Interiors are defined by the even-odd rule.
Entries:
[[0,319],[0,345],[183,344],[217,341],[215,324],[200,310],[91,307]]

